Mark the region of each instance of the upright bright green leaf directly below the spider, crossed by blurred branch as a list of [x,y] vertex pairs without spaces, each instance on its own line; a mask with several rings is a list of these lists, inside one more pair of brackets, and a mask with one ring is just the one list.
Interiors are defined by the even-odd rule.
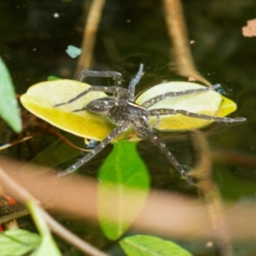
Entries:
[[99,220],[104,234],[111,240],[124,234],[147,199],[148,170],[136,146],[137,143],[127,140],[113,143],[113,152],[98,175]]

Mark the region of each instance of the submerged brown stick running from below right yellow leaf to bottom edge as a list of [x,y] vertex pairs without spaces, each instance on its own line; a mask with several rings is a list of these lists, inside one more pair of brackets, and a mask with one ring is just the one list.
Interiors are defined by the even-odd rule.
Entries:
[[196,187],[207,204],[218,251],[222,256],[232,256],[230,232],[224,218],[224,202],[216,183],[212,181],[212,158],[207,139],[201,131],[193,131],[193,138],[199,160],[191,174],[197,179]]

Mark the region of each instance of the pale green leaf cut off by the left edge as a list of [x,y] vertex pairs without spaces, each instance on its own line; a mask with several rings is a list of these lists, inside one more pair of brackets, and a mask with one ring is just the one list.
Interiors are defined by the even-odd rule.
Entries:
[[11,126],[20,132],[22,129],[18,103],[15,97],[15,89],[7,67],[0,57],[0,116]]

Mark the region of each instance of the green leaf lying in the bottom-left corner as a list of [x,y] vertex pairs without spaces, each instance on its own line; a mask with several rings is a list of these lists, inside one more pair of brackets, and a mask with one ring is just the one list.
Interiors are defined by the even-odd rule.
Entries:
[[6,230],[0,233],[0,255],[24,255],[37,248],[40,240],[38,234],[26,230]]

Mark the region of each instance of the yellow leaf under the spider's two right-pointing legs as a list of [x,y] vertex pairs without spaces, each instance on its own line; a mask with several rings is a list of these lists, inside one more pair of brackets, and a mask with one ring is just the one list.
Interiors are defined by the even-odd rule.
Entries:
[[[191,89],[199,89],[206,86],[190,82],[168,82],[158,84],[143,92],[136,100],[137,104],[142,105],[143,102],[154,96],[162,95],[170,91],[183,91]],[[160,101],[148,109],[157,108],[172,108],[182,109],[192,113],[201,113],[212,116],[224,117],[236,110],[236,103],[221,96],[215,90],[208,90],[204,92],[167,97],[165,100]],[[175,115],[161,116],[161,122],[154,127],[159,131],[184,131],[195,128],[201,128],[212,123],[212,120],[196,119],[183,114],[177,113]],[[152,118],[151,124],[156,122],[156,118]]]

